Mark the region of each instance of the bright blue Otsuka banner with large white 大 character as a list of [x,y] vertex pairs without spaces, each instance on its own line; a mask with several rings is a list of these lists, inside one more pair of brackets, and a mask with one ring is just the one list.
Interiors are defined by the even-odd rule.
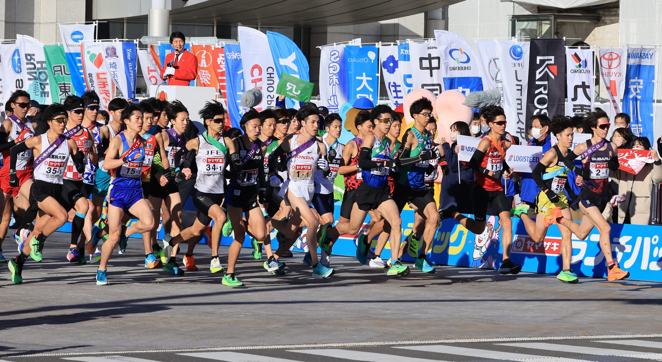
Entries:
[[348,45],[345,46],[345,62],[349,84],[349,99],[354,103],[358,98],[365,97],[377,104],[379,101],[379,58],[377,46]]

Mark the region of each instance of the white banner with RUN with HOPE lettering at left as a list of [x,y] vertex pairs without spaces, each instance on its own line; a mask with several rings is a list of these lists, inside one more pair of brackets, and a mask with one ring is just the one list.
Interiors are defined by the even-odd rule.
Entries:
[[25,76],[25,91],[30,93],[30,99],[40,105],[50,105],[50,79],[46,66],[44,43],[27,35],[17,35],[16,44],[23,56],[21,59]]

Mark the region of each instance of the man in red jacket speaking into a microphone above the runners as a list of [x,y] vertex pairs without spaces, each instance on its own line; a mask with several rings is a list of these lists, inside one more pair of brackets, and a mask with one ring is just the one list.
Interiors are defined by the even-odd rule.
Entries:
[[161,79],[167,85],[189,85],[198,73],[198,60],[184,49],[185,42],[186,38],[181,32],[170,34],[170,45],[175,51],[166,56],[164,68],[161,69]]

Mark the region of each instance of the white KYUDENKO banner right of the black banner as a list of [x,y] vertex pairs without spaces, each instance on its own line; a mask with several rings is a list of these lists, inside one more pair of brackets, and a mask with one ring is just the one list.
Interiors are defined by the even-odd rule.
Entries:
[[567,103],[565,114],[585,114],[593,109],[593,48],[565,47]]

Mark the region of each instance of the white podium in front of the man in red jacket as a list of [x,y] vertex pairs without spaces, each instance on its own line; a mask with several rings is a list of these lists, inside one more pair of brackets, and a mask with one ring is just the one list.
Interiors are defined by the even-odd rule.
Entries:
[[198,116],[198,111],[205,106],[205,102],[216,99],[216,89],[187,85],[152,85],[150,87],[150,97],[156,97],[156,99],[162,101],[177,99],[189,110],[191,120],[202,123],[203,120]]

